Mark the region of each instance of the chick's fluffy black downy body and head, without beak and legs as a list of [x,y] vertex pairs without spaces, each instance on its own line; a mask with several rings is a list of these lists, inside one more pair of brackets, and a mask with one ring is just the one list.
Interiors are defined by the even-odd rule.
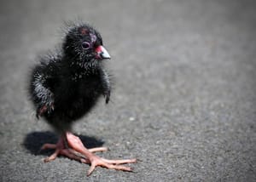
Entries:
[[[107,103],[110,96],[110,80],[102,64],[104,58],[93,57],[93,48],[86,49],[87,54],[77,44],[73,48],[79,49],[78,53],[74,54],[70,48],[73,41],[83,43],[84,36],[101,39],[96,37],[94,30],[90,32],[88,27],[83,27],[69,32],[63,53],[44,57],[32,71],[30,94],[37,107],[37,115],[44,117],[60,132],[69,130],[71,123],[90,111],[101,95],[106,96]],[[84,30],[86,33],[83,35]],[[96,46],[101,46],[101,43],[99,40]]]

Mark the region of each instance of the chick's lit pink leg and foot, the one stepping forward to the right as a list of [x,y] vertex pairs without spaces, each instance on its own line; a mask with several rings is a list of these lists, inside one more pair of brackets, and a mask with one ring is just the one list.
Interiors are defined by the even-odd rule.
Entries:
[[84,159],[81,159],[81,162],[90,163],[90,169],[87,173],[88,176],[90,175],[90,173],[92,173],[94,171],[94,169],[97,166],[102,166],[104,168],[112,168],[112,169],[122,170],[122,171],[132,171],[132,169],[130,167],[126,167],[126,166],[118,165],[118,164],[137,162],[136,159],[108,160],[108,159],[101,158],[99,156],[94,155],[91,152],[93,150],[86,149],[84,147],[81,139],[79,139],[79,137],[71,134],[70,132],[67,132],[66,136],[67,136],[68,145],[71,148],[73,148],[74,151],[78,151],[79,153],[81,153],[85,156]]

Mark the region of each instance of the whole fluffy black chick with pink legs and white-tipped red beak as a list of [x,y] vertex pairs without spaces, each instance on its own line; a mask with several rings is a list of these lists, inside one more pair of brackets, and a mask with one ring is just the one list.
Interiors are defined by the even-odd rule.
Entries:
[[58,155],[90,163],[88,175],[102,166],[124,171],[131,168],[119,165],[136,159],[107,160],[93,154],[105,147],[86,149],[73,135],[72,122],[88,113],[101,95],[106,103],[110,97],[110,79],[102,60],[110,59],[102,46],[98,31],[87,24],[73,25],[67,30],[61,51],[41,59],[32,71],[29,94],[37,110],[37,117],[45,120],[61,135],[57,144],[45,144],[42,149],[55,149],[44,159],[49,162]]

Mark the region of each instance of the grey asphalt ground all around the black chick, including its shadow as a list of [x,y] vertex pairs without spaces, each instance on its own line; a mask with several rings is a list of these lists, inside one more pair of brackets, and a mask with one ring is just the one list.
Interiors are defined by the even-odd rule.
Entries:
[[[0,6],[1,181],[256,181],[253,1],[8,1]],[[135,173],[39,151],[57,136],[35,118],[27,75],[61,43],[64,20],[90,22],[112,56],[112,101],[76,122]]]

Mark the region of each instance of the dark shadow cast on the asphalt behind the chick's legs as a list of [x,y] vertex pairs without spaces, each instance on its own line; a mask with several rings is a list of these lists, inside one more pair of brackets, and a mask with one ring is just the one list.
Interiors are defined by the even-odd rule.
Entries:
[[[104,144],[104,142],[100,139],[96,139],[94,137],[84,136],[75,134],[82,140],[84,146],[86,148],[99,147]],[[40,148],[45,143],[55,144],[58,140],[58,136],[52,132],[32,132],[30,134],[26,134],[26,138],[23,141],[23,146],[25,146],[27,151],[30,151],[34,155],[44,155],[49,156],[53,150],[44,150],[40,151]]]

